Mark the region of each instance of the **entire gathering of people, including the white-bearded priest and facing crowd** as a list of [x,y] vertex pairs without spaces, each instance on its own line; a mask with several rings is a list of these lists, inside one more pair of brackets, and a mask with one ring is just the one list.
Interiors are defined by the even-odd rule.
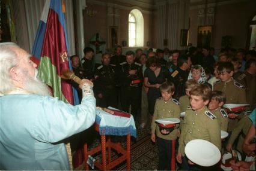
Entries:
[[[69,170],[62,142],[90,127],[96,104],[130,112],[142,129],[151,126],[151,141],[159,149],[158,170],[169,170],[175,149],[181,170],[216,170],[190,161],[184,152],[189,141],[204,139],[223,152],[237,149],[242,160],[255,157],[255,51],[190,47],[189,51],[142,49],[122,54],[103,53],[95,65],[94,50],[70,57],[73,72],[82,79],[72,83],[81,105],[50,97],[37,78],[37,65],[16,44],[0,44],[0,169]],[[246,112],[227,112],[225,103],[246,104]],[[252,112],[248,112],[252,111]],[[180,117],[181,112],[186,112]],[[249,115],[248,115],[249,114]],[[178,118],[172,131],[159,129],[159,118]],[[229,137],[221,140],[221,130]],[[238,140],[238,141],[236,141]],[[252,161],[255,161],[252,159]],[[231,161],[234,169],[252,163]]]

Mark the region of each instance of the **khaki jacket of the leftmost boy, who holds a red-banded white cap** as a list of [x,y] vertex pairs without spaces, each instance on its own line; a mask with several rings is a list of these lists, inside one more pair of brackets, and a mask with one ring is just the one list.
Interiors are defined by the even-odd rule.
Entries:
[[168,135],[163,135],[159,126],[155,123],[154,120],[162,119],[162,118],[178,118],[180,119],[180,106],[172,101],[172,98],[168,101],[165,101],[161,98],[156,100],[156,105],[154,106],[154,115],[151,123],[151,133],[156,132],[156,136],[166,140],[174,140],[177,139],[178,129],[177,127]]

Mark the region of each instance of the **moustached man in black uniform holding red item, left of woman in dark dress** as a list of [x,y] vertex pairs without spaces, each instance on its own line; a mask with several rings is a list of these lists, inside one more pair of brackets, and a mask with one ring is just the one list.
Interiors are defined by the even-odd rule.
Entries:
[[136,118],[141,104],[142,68],[140,63],[134,62],[135,54],[127,51],[126,62],[120,63],[121,78],[121,106],[123,111],[131,113]]

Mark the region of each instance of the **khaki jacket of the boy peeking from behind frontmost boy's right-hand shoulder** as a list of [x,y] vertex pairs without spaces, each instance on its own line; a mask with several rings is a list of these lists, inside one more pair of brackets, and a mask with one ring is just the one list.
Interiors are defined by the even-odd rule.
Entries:
[[228,130],[228,114],[227,112],[225,113],[221,113],[221,110],[222,112],[224,111],[224,109],[221,109],[221,108],[218,108],[218,109],[215,109],[213,111],[210,111],[213,113],[213,115],[215,115],[215,117],[217,117],[218,121],[219,121],[219,124],[221,126],[221,130],[224,130],[225,132],[227,132]]

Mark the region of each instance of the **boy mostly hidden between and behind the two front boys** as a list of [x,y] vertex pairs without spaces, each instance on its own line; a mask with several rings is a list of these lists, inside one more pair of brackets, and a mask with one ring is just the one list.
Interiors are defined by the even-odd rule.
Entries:
[[178,100],[180,102],[180,112],[184,112],[187,109],[187,106],[190,106],[190,102],[189,102],[189,91],[192,90],[192,88],[194,88],[197,84],[197,81],[195,80],[187,80],[187,82],[185,83],[185,91],[186,91],[186,95],[181,96],[180,99]]

